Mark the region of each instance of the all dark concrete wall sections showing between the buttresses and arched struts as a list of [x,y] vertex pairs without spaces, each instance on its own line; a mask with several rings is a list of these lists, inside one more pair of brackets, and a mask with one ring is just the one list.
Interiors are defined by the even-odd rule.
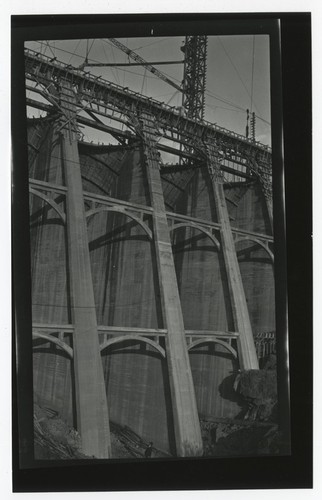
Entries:
[[[64,184],[57,137],[47,122],[29,123],[30,175]],[[36,148],[39,152],[36,152]],[[96,194],[149,206],[142,152],[138,147],[79,146],[83,188]],[[202,169],[182,177],[181,190],[164,181],[167,209],[216,221],[212,189]],[[188,183],[187,183],[188,182]],[[232,225],[268,231],[265,206],[254,186],[227,187]],[[56,197],[63,207],[63,197]],[[66,235],[57,213],[30,197],[33,273],[33,321],[68,323]],[[91,208],[86,204],[86,208]],[[151,220],[144,216],[151,227]],[[99,325],[162,328],[153,245],[132,219],[101,212],[88,218],[95,305]],[[219,235],[217,233],[218,239]],[[247,243],[248,244],[248,243]],[[265,251],[240,244],[240,269],[255,331],[273,329],[272,265]],[[232,314],[223,260],[213,242],[192,228],[173,234],[173,252],[186,329],[232,330]],[[264,252],[264,253],[263,253]],[[152,347],[127,342],[105,349],[102,361],[112,421],[127,425],[161,449],[173,443],[167,367]],[[240,407],[231,390],[238,366],[218,344],[190,351],[198,410],[203,416],[233,417]],[[37,341],[34,387],[40,404],[60,411],[73,422],[71,362],[59,348]]]

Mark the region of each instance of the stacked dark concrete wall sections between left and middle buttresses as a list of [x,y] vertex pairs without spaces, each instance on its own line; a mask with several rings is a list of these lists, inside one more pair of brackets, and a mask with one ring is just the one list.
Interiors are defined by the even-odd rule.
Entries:
[[[104,158],[112,162],[107,154]],[[123,152],[114,169],[118,175],[112,180],[106,177],[101,189],[121,200],[148,205],[140,150]],[[88,171],[84,189],[91,180]],[[162,328],[153,246],[144,230],[122,214],[103,212],[89,219],[88,232],[98,324]],[[127,344],[102,353],[110,418],[168,450],[171,408],[166,364],[149,346]]]

